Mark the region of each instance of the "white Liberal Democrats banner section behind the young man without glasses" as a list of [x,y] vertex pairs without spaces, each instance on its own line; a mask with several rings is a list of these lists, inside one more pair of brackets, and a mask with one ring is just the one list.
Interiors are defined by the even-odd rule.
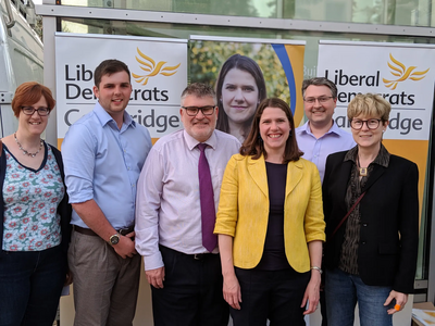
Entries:
[[179,98],[187,85],[187,40],[91,34],[55,34],[58,142],[94,109],[94,71],[107,59],[125,62],[133,92],[127,112],[153,142],[183,127]]

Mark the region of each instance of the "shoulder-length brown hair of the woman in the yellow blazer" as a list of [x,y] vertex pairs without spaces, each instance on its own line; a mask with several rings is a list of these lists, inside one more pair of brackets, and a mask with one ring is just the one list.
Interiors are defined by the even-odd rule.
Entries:
[[251,155],[253,160],[260,159],[261,154],[264,155],[264,159],[268,158],[268,152],[264,149],[263,140],[260,136],[260,120],[266,108],[283,110],[290,123],[290,136],[287,138],[283,163],[298,161],[299,158],[303,155],[303,152],[299,150],[298,143],[296,142],[295,121],[291,110],[286,102],[278,98],[269,98],[261,101],[253,116],[251,130],[240,148],[240,154],[245,156]]

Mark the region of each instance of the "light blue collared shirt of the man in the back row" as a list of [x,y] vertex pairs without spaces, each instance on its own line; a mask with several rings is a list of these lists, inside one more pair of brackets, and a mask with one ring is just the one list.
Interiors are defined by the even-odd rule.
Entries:
[[311,133],[309,122],[307,122],[303,126],[296,128],[296,140],[303,152],[302,158],[318,166],[322,183],[327,156],[347,151],[357,145],[352,135],[340,129],[335,122],[331,129],[319,139]]

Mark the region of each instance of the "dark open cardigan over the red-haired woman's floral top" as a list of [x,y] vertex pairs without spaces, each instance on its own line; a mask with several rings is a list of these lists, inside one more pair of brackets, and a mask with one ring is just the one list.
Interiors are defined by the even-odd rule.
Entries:
[[[47,152],[47,143],[45,143],[46,146],[46,152]],[[62,231],[62,250],[65,253],[65,260],[66,260],[66,254],[67,254],[67,248],[70,244],[70,240],[71,240],[71,213],[72,213],[72,208],[71,204],[69,204],[69,197],[66,193],[66,186],[65,186],[65,174],[63,171],[63,162],[62,162],[62,155],[61,152],[52,147],[51,145],[48,145],[51,147],[51,150],[54,154],[55,161],[58,162],[60,172],[61,172],[61,176],[62,176],[62,180],[63,180],[63,186],[65,187],[65,195],[62,199],[62,201],[60,202],[59,206],[58,206],[58,213],[61,216],[61,231]],[[7,167],[7,156],[5,156],[5,152],[4,152],[4,148],[2,148],[1,151],[1,156],[0,156],[0,190],[3,189],[3,183],[4,183],[4,177],[5,177],[5,168]],[[0,200],[0,216],[2,217],[1,220],[3,220],[4,216],[4,199],[3,199],[3,191],[1,191],[1,200]],[[0,243],[3,243],[3,223],[0,223]],[[1,247],[0,247],[1,249]],[[0,250],[0,255],[2,254],[2,250]]]

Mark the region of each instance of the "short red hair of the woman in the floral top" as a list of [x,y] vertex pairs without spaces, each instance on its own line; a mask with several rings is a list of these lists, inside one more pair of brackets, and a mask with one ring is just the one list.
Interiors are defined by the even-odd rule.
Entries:
[[44,97],[47,101],[47,106],[50,112],[54,109],[55,101],[51,90],[39,83],[27,82],[20,85],[12,100],[11,106],[16,117],[20,116],[21,108],[25,105],[33,105]]

